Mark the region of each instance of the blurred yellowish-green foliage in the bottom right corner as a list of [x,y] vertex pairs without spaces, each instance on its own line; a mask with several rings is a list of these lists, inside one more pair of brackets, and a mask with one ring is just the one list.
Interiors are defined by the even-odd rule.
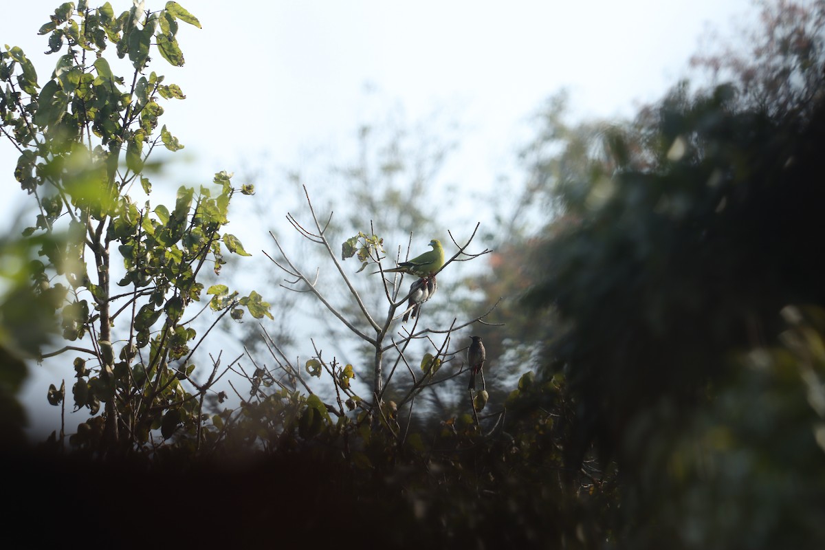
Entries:
[[630,547],[818,548],[825,540],[825,310],[781,313],[787,327],[776,345],[733,357],[681,430],[649,425],[672,425],[680,414],[660,401],[627,436],[644,461],[623,499],[638,503],[622,534]]

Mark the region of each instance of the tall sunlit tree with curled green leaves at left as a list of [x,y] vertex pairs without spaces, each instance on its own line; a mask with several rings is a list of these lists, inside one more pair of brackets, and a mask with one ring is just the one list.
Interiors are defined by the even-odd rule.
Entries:
[[[214,322],[227,313],[241,317],[242,307],[253,317],[269,315],[260,294],[201,282],[205,266],[219,273],[224,251],[248,256],[237,237],[221,234],[236,192],[229,174],[216,174],[214,186],[181,187],[172,208],[134,198],[152,192],[144,167],[153,149],[183,147],[159,121],[162,101],[185,96],[148,71],[149,54],[181,66],[178,26],[200,27],[177,2],[142,9],[135,4],[115,16],[108,2],[58,7],[40,28],[48,53],[59,54],[42,86],[21,49],[7,47],[0,64],[2,134],[20,152],[16,180],[40,211],[23,232],[40,246],[40,259],[29,265],[31,289],[48,297],[68,341],[39,357],[77,354],[69,386],[75,410],[92,417],[71,441],[99,451],[155,449],[154,430],[163,440],[200,444],[200,408],[219,364],[197,381],[192,357],[203,336],[187,309],[205,295],[205,307],[219,313]],[[129,78],[109,54],[128,59]],[[67,391],[53,384],[49,402],[63,404]]]

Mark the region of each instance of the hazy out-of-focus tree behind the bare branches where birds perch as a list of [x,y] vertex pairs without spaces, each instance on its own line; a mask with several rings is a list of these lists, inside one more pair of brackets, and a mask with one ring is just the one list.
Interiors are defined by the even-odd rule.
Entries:
[[[331,154],[329,157],[314,158],[307,166],[290,168],[283,178],[282,185],[285,189],[295,186],[299,190],[299,200],[303,204],[290,204],[289,212],[304,222],[312,219],[305,196],[306,190],[309,190],[316,212],[323,212],[325,209],[334,212],[334,215],[325,221],[327,232],[330,235],[339,235],[341,240],[359,232],[380,233],[388,255],[400,260],[411,252],[414,256],[417,251],[426,248],[427,242],[433,237],[441,238],[448,252],[455,251],[447,229],[472,228],[479,219],[469,217],[474,214],[460,211],[460,205],[466,201],[455,193],[453,184],[445,173],[450,162],[450,152],[455,148],[455,143],[450,137],[451,127],[449,121],[433,118],[408,122],[403,120],[401,113],[396,110],[390,111],[389,115],[380,120],[365,122],[355,133],[355,147],[350,154]],[[273,171],[271,167],[268,170]],[[252,176],[252,181],[256,181],[255,178],[260,181],[262,176],[257,173]],[[324,185],[319,186],[319,181]],[[257,185],[257,188],[262,189],[260,192],[263,193],[269,187]],[[342,197],[346,199],[342,200]],[[273,196],[273,200],[275,198]],[[283,194],[278,195],[278,200],[283,203]],[[434,205],[441,204],[451,206],[434,209]],[[455,208],[452,205],[455,205]],[[295,233],[292,226],[284,229],[273,221],[271,209],[264,209],[260,215],[262,223],[271,227],[271,232],[285,249],[290,251],[293,259],[299,258],[304,266],[313,265],[314,262],[317,262],[318,266],[327,265],[329,256],[323,247],[312,246],[312,242],[304,238],[295,239],[299,233]],[[483,225],[481,230],[483,231]],[[332,246],[337,248],[338,245]],[[352,266],[351,261],[357,262],[354,259],[345,260],[342,264],[347,273],[360,266],[358,263]],[[478,271],[479,267],[475,265],[479,264],[481,262],[455,262],[450,266],[442,275],[435,299],[428,301],[422,309],[422,324],[427,327],[449,326],[456,318],[474,318],[486,312],[491,303],[487,303],[486,307],[482,306],[479,311],[469,312],[464,309],[469,294],[466,289],[467,276],[464,274]],[[355,269],[350,270],[348,266]],[[389,266],[390,263],[387,264],[387,267]],[[262,277],[271,280],[271,286],[277,289],[271,297],[273,303],[290,303],[289,308],[284,309],[290,312],[288,324],[291,333],[301,331],[305,336],[314,337],[319,345],[326,342],[323,346],[325,353],[330,357],[330,354],[334,354],[342,364],[352,364],[356,368],[359,365],[373,364],[374,348],[361,339],[353,339],[351,331],[339,322],[337,317],[329,315],[328,309],[322,303],[315,300],[299,300],[299,294],[281,289],[281,285],[288,288],[291,286],[286,282],[291,280],[290,277],[285,277],[281,270],[271,269],[262,270]],[[358,275],[353,276],[352,280],[365,308],[373,312],[386,307],[386,294],[378,280],[378,275],[372,278]],[[318,287],[324,289],[329,302],[343,317],[355,323],[362,333],[373,330],[369,323],[362,319],[360,306],[351,301],[351,294],[341,284],[337,270],[318,270],[317,281]],[[404,284],[408,287],[410,282],[407,278]],[[402,297],[401,294],[398,295],[399,299]],[[493,299],[492,303],[495,301]],[[402,311],[399,309],[397,313]],[[278,313],[275,312],[275,315]],[[398,324],[393,331],[402,336],[403,326],[405,325]],[[469,334],[468,331],[469,328],[464,330]],[[290,349],[295,350],[291,355],[306,351],[301,346],[290,346],[290,343],[278,341],[281,336],[278,331],[271,331],[267,327],[267,332],[287,355],[290,355]],[[254,349],[258,342],[262,342],[259,330],[250,331],[244,339],[250,350]],[[467,341],[469,342],[469,339]],[[453,342],[457,346],[455,350],[466,346],[461,338],[454,337]],[[423,356],[428,350],[419,346],[420,343],[417,339],[411,342],[408,353]],[[259,351],[264,351],[266,355],[266,350]],[[458,360],[450,364],[458,364],[460,359],[459,356]],[[314,386],[314,380],[308,381],[309,386],[320,395],[332,398],[332,395],[325,394],[329,388]],[[353,388],[362,393],[370,393],[370,389],[362,385],[366,382],[371,383],[371,377],[356,377],[353,380]],[[397,400],[409,389],[408,379],[397,378],[392,391],[398,392],[398,395],[392,398]],[[457,395],[451,385],[436,385],[417,397],[416,416],[423,420],[432,413],[440,421],[446,415],[466,411],[466,407],[467,402],[463,393]]]

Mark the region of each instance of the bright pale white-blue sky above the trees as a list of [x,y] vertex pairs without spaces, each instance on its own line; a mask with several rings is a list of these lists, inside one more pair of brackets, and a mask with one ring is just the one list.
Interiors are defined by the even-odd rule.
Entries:
[[[131,6],[110,2],[115,13]],[[57,55],[42,54],[47,37],[36,33],[60,3],[7,2],[0,18],[0,45],[20,46],[41,85]],[[188,96],[164,105],[163,123],[196,159],[193,180],[243,172],[262,154],[290,167],[308,148],[347,147],[358,125],[401,106],[409,121],[441,110],[468,129],[455,179],[482,188],[513,162],[530,138],[530,115],[560,88],[570,91],[577,115],[632,115],[686,73],[708,25],[730,31],[754,12],[749,0],[180,3],[203,28],[181,23],[183,68],[159,55],[151,68]],[[0,231],[12,219],[11,200],[22,196],[16,157],[0,142],[7,186]],[[246,242],[243,229],[233,228]],[[26,401],[45,404],[51,382],[54,373],[33,380]],[[59,427],[49,421],[50,430]],[[76,422],[69,424],[73,431]]]

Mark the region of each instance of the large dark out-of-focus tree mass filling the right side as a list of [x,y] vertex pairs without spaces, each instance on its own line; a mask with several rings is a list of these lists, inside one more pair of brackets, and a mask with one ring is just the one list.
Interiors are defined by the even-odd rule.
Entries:
[[[797,9],[767,4],[757,48],[772,45],[785,32],[776,21],[788,24]],[[794,36],[820,40],[819,31]],[[776,67],[797,54],[774,51],[783,57],[750,58],[747,82],[698,93],[683,85],[643,109],[608,149],[609,170],[556,193],[573,223],[538,249],[543,276],[528,299],[557,327],[544,377],[563,374],[575,403],[566,464],[577,468],[593,444],[605,467],[615,461],[615,535],[628,548],[777,548],[821,537],[808,499],[825,487],[797,493],[793,472],[804,463],[821,477],[818,408],[797,400],[804,380],[818,388],[823,373],[791,358],[816,355],[821,332],[816,322],[789,328],[782,313],[825,305],[813,275],[823,268],[814,252],[825,199],[816,153],[823,60],[798,66],[813,71],[805,78],[780,71],[789,82],[778,82]],[[804,343],[787,340],[797,330]],[[778,383],[789,370],[797,383]],[[760,396],[769,380],[771,397]],[[773,401],[759,422],[736,408],[765,398]],[[780,441],[793,459],[775,452]],[[786,514],[794,494],[801,509]],[[719,498],[732,510],[725,520]]]

